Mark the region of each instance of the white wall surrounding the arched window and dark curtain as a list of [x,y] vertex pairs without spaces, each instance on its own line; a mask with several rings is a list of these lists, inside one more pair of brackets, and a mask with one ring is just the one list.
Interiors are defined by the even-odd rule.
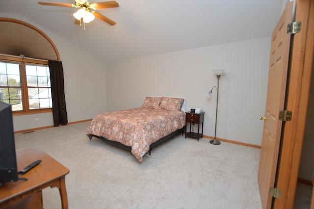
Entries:
[[[55,44],[63,65],[69,122],[91,119],[96,114],[106,111],[105,62],[95,59],[53,32],[23,17],[3,13],[0,13],[0,17],[14,18],[29,23],[46,33]],[[52,113],[14,116],[13,124],[14,131],[52,126]]]

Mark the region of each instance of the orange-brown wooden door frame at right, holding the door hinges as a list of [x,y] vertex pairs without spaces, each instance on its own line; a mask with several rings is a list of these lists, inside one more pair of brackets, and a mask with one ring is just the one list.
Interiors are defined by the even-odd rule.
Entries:
[[287,110],[292,120],[284,124],[274,209],[293,209],[309,103],[314,57],[314,0],[296,0],[295,21],[301,32],[294,34],[287,93]]

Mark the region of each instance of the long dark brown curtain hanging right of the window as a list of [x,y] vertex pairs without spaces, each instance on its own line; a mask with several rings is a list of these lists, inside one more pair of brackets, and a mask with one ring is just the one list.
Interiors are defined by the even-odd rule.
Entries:
[[64,78],[61,61],[48,60],[51,80],[53,126],[68,123],[64,96]]

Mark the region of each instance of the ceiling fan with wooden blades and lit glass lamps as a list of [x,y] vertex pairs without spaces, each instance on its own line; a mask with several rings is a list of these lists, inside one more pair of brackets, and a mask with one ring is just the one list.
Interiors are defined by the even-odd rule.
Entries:
[[76,18],[75,24],[81,25],[81,23],[83,22],[84,29],[85,29],[85,23],[90,23],[91,21],[95,19],[95,17],[97,17],[98,19],[102,21],[105,21],[107,24],[111,26],[116,25],[116,22],[98,13],[96,10],[119,7],[119,4],[115,0],[103,1],[103,2],[98,2],[98,3],[92,3],[90,0],[75,0],[75,4],[50,3],[50,2],[40,2],[40,1],[38,3],[40,5],[45,5],[45,6],[64,6],[64,7],[78,8],[78,11],[73,14],[73,16]]

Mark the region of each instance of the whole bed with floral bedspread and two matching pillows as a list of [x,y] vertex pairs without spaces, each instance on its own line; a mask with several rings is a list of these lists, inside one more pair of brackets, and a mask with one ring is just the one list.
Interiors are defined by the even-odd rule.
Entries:
[[146,97],[138,108],[112,111],[95,116],[87,129],[93,137],[130,150],[141,162],[160,143],[183,134],[183,98]]

